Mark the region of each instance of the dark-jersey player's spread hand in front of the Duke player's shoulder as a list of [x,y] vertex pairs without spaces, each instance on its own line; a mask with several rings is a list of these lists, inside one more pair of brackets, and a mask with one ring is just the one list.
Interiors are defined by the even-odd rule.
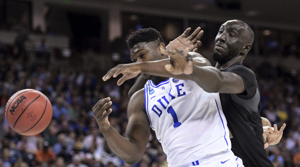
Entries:
[[193,58],[188,54],[189,50],[187,48],[178,50],[173,42],[170,42],[169,45],[170,50],[160,48],[162,54],[170,56],[170,64],[165,65],[166,70],[174,75],[191,74],[193,72]]

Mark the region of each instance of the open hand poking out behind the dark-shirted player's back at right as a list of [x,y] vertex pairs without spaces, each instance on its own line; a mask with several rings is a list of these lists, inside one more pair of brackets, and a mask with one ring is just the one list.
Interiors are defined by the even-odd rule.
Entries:
[[267,140],[268,140],[268,142],[265,144],[265,148],[268,147],[269,145],[275,145],[279,143],[279,141],[282,138],[283,129],[285,128],[285,126],[286,124],[283,123],[280,130],[278,131],[277,125],[274,124],[273,129],[271,127],[268,127],[268,130],[263,131],[263,133],[267,135]]

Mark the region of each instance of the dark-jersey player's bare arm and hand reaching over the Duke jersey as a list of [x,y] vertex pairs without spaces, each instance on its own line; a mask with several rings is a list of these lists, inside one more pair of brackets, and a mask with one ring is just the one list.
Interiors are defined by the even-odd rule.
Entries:
[[[211,66],[194,65],[194,62],[187,59],[188,54],[180,52],[172,47],[172,44],[170,44],[170,48],[170,50],[160,49],[161,53],[170,56],[170,64],[165,67],[170,73],[188,74],[187,77],[194,80],[203,90],[209,93],[238,94],[244,92],[244,81],[238,74],[221,72]],[[180,64],[180,66],[177,64]]]

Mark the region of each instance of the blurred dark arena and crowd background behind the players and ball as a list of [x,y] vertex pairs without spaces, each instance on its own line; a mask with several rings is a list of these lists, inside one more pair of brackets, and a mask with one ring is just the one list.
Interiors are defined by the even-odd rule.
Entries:
[[[289,0],[0,0],[0,166],[128,167],[108,148],[91,111],[112,98],[110,123],[124,135],[128,90],[102,81],[115,65],[130,63],[125,43],[153,27],[166,44],[191,27],[204,30],[198,52],[211,59],[220,25],[239,19],[255,33],[244,60],[257,77],[261,116],[279,128],[281,142],[266,150],[275,167],[300,166],[300,1]],[[13,93],[32,88],[53,106],[49,127],[16,134],[4,116]],[[167,167],[154,132],[135,167]]]

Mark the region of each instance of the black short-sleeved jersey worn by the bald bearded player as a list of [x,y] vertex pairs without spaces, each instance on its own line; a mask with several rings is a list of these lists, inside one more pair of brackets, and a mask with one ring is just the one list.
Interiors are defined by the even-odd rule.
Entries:
[[245,86],[240,94],[220,93],[223,113],[233,135],[233,153],[243,160],[245,167],[274,167],[264,149],[260,95],[254,72],[240,63],[220,71],[238,74]]

